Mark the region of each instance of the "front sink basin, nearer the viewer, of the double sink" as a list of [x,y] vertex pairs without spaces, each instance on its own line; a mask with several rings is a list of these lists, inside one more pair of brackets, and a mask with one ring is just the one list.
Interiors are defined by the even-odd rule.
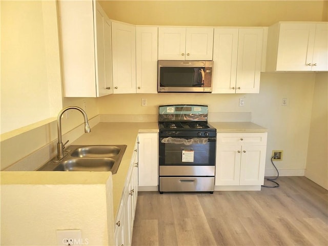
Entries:
[[111,171],[114,163],[111,158],[73,158],[61,161],[53,171]]

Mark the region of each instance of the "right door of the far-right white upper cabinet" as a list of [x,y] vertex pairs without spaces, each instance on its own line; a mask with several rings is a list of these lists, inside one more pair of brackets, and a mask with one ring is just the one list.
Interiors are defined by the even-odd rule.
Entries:
[[328,71],[328,23],[316,25],[312,71]]

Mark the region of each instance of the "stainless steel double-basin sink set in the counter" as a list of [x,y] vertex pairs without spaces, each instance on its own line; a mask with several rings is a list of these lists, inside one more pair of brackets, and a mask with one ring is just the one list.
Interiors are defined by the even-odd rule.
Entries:
[[115,174],[126,150],[126,145],[71,145],[64,158],[48,161],[37,171],[111,171]]

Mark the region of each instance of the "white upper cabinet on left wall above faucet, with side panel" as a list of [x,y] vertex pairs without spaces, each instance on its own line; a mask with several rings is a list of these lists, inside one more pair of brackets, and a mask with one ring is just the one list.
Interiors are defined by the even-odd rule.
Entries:
[[112,93],[111,23],[95,1],[58,1],[65,97]]

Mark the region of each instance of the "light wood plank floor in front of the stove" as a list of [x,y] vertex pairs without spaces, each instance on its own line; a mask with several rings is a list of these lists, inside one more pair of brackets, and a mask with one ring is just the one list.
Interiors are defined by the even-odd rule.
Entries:
[[328,245],[328,192],[305,177],[277,181],[261,191],[139,192],[132,245]]

